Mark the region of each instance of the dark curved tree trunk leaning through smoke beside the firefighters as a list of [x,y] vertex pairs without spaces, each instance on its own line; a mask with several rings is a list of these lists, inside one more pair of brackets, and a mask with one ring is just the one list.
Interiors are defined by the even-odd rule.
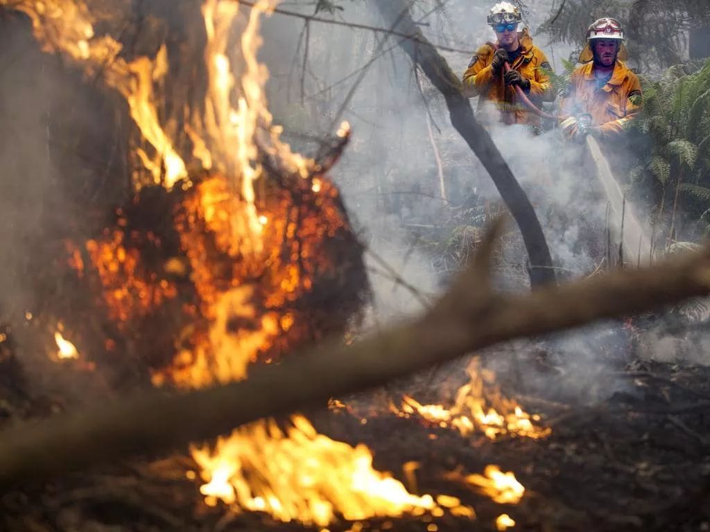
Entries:
[[530,199],[510,171],[503,155],[493,143],[491,135],[488,135],[483,126],[476,121],[469,99],[462,92],[458,77],[452,72],[446,60],[422,35],[404,0],[377,0],[376,5],[388,25],[399,20],[393,29],[411,35],[410,39],[402,40],[400,45],[444,95],[454,128],[486,167],[503,201],[515,218],[515,222],[518,223],[530,257],[530,284],[536,287],[554,283],[555,270],[552,267],[550,249],[547,247],[545,234],[535,215],[535,209],[532,208]]

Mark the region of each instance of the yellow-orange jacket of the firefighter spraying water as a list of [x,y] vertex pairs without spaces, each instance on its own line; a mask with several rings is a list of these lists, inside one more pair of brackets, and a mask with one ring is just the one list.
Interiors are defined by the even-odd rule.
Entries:
[[589,113],[594,125],[601,126],[603,136],[614,138],[623,133],[642,103],[641,83],[623,62],[616,61],[611,79],[603,87],[594,77],[594,63],[589,62],[572,72],[560,111],[568,115]]

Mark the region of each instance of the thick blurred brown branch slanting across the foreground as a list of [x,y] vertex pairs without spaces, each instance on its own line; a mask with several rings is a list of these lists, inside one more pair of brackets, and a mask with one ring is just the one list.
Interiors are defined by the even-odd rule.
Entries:
[[266,416],[324,404],[513,338],[626,316],[710,293],[710,249],[647,269],[598,276],[530,294],[493,292],[499,231],[447,294],[411,323],[351,346],[337,343],[256,367],[244,382],[180,395],[151,392],[120,404],[21,425],[0,436],[0,487],[129,455],[162,453]]

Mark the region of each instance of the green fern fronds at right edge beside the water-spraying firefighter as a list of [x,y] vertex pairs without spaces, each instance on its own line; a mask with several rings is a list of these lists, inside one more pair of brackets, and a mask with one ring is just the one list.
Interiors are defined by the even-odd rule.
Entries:
[[680,209],[695,220],[708,218],[710,60],[672,67],[644,84],[644,108],[632,126],[637,161],[630,178],[672,196],[680,182]]

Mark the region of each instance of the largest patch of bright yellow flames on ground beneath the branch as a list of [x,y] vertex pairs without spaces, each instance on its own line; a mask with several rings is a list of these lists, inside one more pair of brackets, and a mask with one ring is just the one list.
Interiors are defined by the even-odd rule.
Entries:
[[[430,495],[412,495],[398,480],[373,470],[366,446],[327,438],[302,416],[293,416],[291,423],[283,431],[275,421],[260,421],[218,440],[214,452],[194,448],[208,504],[221,499],[241,509],[268,511],[280,521],[318,526],[337,514],[355,521],[417,509],[442,513]],[[454,497],[439,500],[460,509],[460,515],[474,515]]]

